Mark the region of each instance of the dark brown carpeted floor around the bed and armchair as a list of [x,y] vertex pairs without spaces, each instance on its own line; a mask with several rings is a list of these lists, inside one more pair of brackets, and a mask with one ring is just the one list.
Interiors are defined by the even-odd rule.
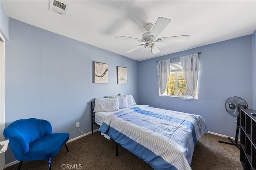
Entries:
[[[220,141],[229,140],[206,133],[196,145],[191,168],[192,170],[242,170],[240,150]],[[69,153],[63,147],[52,158],[52,170],[152,170],[143,160],[119,147],[116,157],[116,144],[107,140],[99,132],[87,135],[67,143]],[[17,170],[18,164],[4,170]],[[23,162],[21,170],[47,170],[48,160]]]

